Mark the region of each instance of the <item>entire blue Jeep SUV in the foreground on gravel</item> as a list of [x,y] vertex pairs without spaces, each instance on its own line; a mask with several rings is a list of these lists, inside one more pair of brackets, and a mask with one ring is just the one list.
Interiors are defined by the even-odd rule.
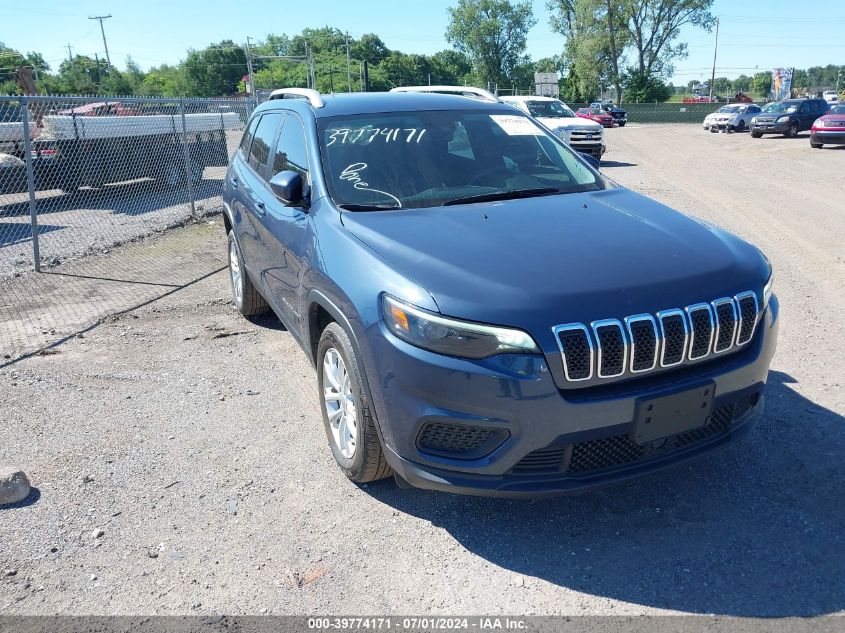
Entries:
[[353,481],[560,494],[707,454],[760,417],[766,258],[511,106],[279,90],[224,201],[237,308],[271,309],[308,355]]

